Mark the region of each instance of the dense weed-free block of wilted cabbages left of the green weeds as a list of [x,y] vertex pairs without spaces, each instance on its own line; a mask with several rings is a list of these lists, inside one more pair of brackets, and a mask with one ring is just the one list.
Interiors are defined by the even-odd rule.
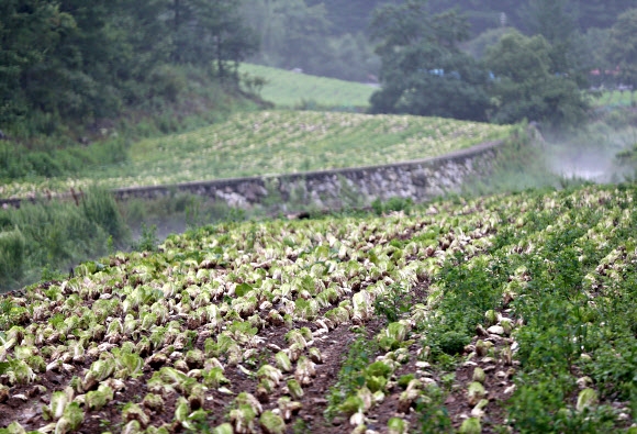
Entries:
[[[0,334],[0,401],[38,385],[42,372],[63,375],[68,383],[43,410],[49,423],[30,429],[71,432],[85,413],[109,405],[132,381],[146,381],[149,393],[126,404],[122,418],[127,432],[152,432],[149,414],[166,410],[167,396],[180,397],[175,420],[188,426],[202,418],[210,390],[242,392],[224,376],[236,366],[255,378],[257,392],[242,394],[245,402],[235,398],[228,414],[235,432],[252,432],[261,411],[246,405],[278,388],[284,396],[261,419],[284,426],[322,363],[316,338],[339,324],[365,323],[389,286],[432,275],[447,253],[487,246],[496,222],[473,213],[460,226],[432,208],[414,218],[228,224],[171,236],[161,253],[81,265],[70,280],[11,299],[29,315]],[[316,330],[297,329],[297,321]],[[282,326],[290,329],[288,346],[270,345],[272,359],[258,365],[268,344],[260,332]]]

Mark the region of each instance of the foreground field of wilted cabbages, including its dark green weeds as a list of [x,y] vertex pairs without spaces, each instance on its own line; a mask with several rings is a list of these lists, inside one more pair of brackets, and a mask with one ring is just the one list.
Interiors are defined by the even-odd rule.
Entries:
[[637,187],[223,223],[0,299],[0,433],[635,433]]

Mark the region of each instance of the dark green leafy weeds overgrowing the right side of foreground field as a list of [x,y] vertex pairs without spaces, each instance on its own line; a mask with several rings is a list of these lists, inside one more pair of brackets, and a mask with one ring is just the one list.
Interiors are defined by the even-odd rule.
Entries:
[[[604,277],[596,267],[611,252],[634,254],[635,244],[626,240],[635,238],[637,218],[608,227],[603,243],[586,235],[608,221],[608,212],[621,214],[634,189],[624,185],[604,203],[581,201],[582,189],[565,190],[552,194],[551,201],[559,205],[551,209],[545,208],[543,192],[527,192],[527,210],[516,214],[522,223],[511,224],[511,216],[501,213],[502,223],[483,261],[470,264],[457,255],[447,259],[435,279],[442,291],[435,304],[439,314],[421,325],[427,330],[423,345],[429,346],[439,364],[452,361],[446,354],[462,349],[485,310],[502,311],[505,303],[513,320],[524,319],[524,326],[514,332],[521,365],[515,392],[507,401],[507,419],[515,431],[616,432],[621,423],[616,410],[605,402],[635,399],[637,334],[635,316],[627,314],[626,307],[637,301],[636,266],[627,257],[619,259],[623,265],[614,268],[622,270],[622,278]],[[529,242],[538,244],[526,253],[521,247]],[[521,272],[524,279],[512,282]],[[593,297],[591,275],[601,279]],[[512,302],[504,301],[504,288],[514,288]],[[583,376],[592,378],[604,402],[575,411],[575,381]],[[446,420],[444,409],[433,410]],[[634,414],[635,410],[633,405]],[[431,423],[424,426],[439,432]]]

